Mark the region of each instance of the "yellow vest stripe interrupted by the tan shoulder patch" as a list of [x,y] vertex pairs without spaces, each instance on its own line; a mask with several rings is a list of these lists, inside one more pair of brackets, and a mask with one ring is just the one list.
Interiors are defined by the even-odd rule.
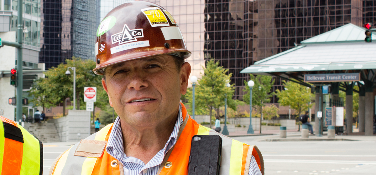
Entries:
[[[104,141],[106,139],[107,133],[110,130],[112,124],[109,124],[101,129],[101,132],[97,132],[94,140]],[[82,164],[81,175],[91,175],[95,163],[97,162],[97,157],[86,157],[85,161]]]

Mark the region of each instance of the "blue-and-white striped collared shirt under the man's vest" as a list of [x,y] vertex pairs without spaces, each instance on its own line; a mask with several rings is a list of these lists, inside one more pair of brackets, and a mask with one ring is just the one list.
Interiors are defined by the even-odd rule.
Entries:
[[[176,138],[179,133],[181,124],[183,123],[182,106],[179,105],[179,113],[174,126],[174,130],[170,135],[165,147],[145,165],[144,162],[135,158],[128,157],[124,153],[123,134],[121,133],[120,118],[117,117],[112,127],[106,151],[115,159],[123,164],[124,175],[156,175],[159,166],[167,152],[176,144]],[[256,168],[256,171],[255,171]],[[249,175],[261,175],[255,158],[252,156]],[[257,173],[258,171],[258,173]]]

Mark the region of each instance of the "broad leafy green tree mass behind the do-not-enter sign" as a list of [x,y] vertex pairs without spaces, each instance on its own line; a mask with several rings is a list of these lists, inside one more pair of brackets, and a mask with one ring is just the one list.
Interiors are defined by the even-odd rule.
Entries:
[[[63,116],[65,116],[65,99],[70,97],[73,99],[73,72],[70,75],[65,75],[68,67],[76,67],[76,104],[77,109],[85,105],[83,102],[83,88],[97,87],[97,102],[94,106],[105,108],[108,105],[108,96],[102,88],[102,76],[95,75],[92,69],[95,68],[96,63],[93,60],[83,60],[81,58],[72,57],[71,60],[65,60],[67,64],[61,63],[57,67],[52,67],[45,72],[46,78],[37,80],[33,85],[32,90],[39,90],[40,87],[45,88],[47,94],[44,97],[54,98],[52,106],[63,103]],[[33,93],[36,99],[41,99],[42,94]]]

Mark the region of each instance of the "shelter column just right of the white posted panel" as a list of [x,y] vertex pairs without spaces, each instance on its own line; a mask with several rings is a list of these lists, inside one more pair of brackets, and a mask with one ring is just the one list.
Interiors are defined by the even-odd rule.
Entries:
[[352,124],[353,124],[353,86],[354,82],[345,83],[346,84],[346,133],[352,133]]

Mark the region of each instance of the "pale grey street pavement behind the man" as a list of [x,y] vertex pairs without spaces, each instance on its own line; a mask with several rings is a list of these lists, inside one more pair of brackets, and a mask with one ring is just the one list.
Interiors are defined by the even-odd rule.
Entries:
[[[255,131],[255,133],[258,131]],[[265,175],[374,175],[376,174],[376,136],[336,136],[351,141],[317,141],[327,136],[309,136],[301,141],[300,132],[288,131],[287,139],[276,141],[278,130],[263,131],[268,135],[240,136],[238,141],[256,145],[265,163]],[[325,134],[325,132],[324,132]],[[44,144],[43,175],[48,175],[54,160],[76,142]],[[79,173],[80,174],[80,173]]]

